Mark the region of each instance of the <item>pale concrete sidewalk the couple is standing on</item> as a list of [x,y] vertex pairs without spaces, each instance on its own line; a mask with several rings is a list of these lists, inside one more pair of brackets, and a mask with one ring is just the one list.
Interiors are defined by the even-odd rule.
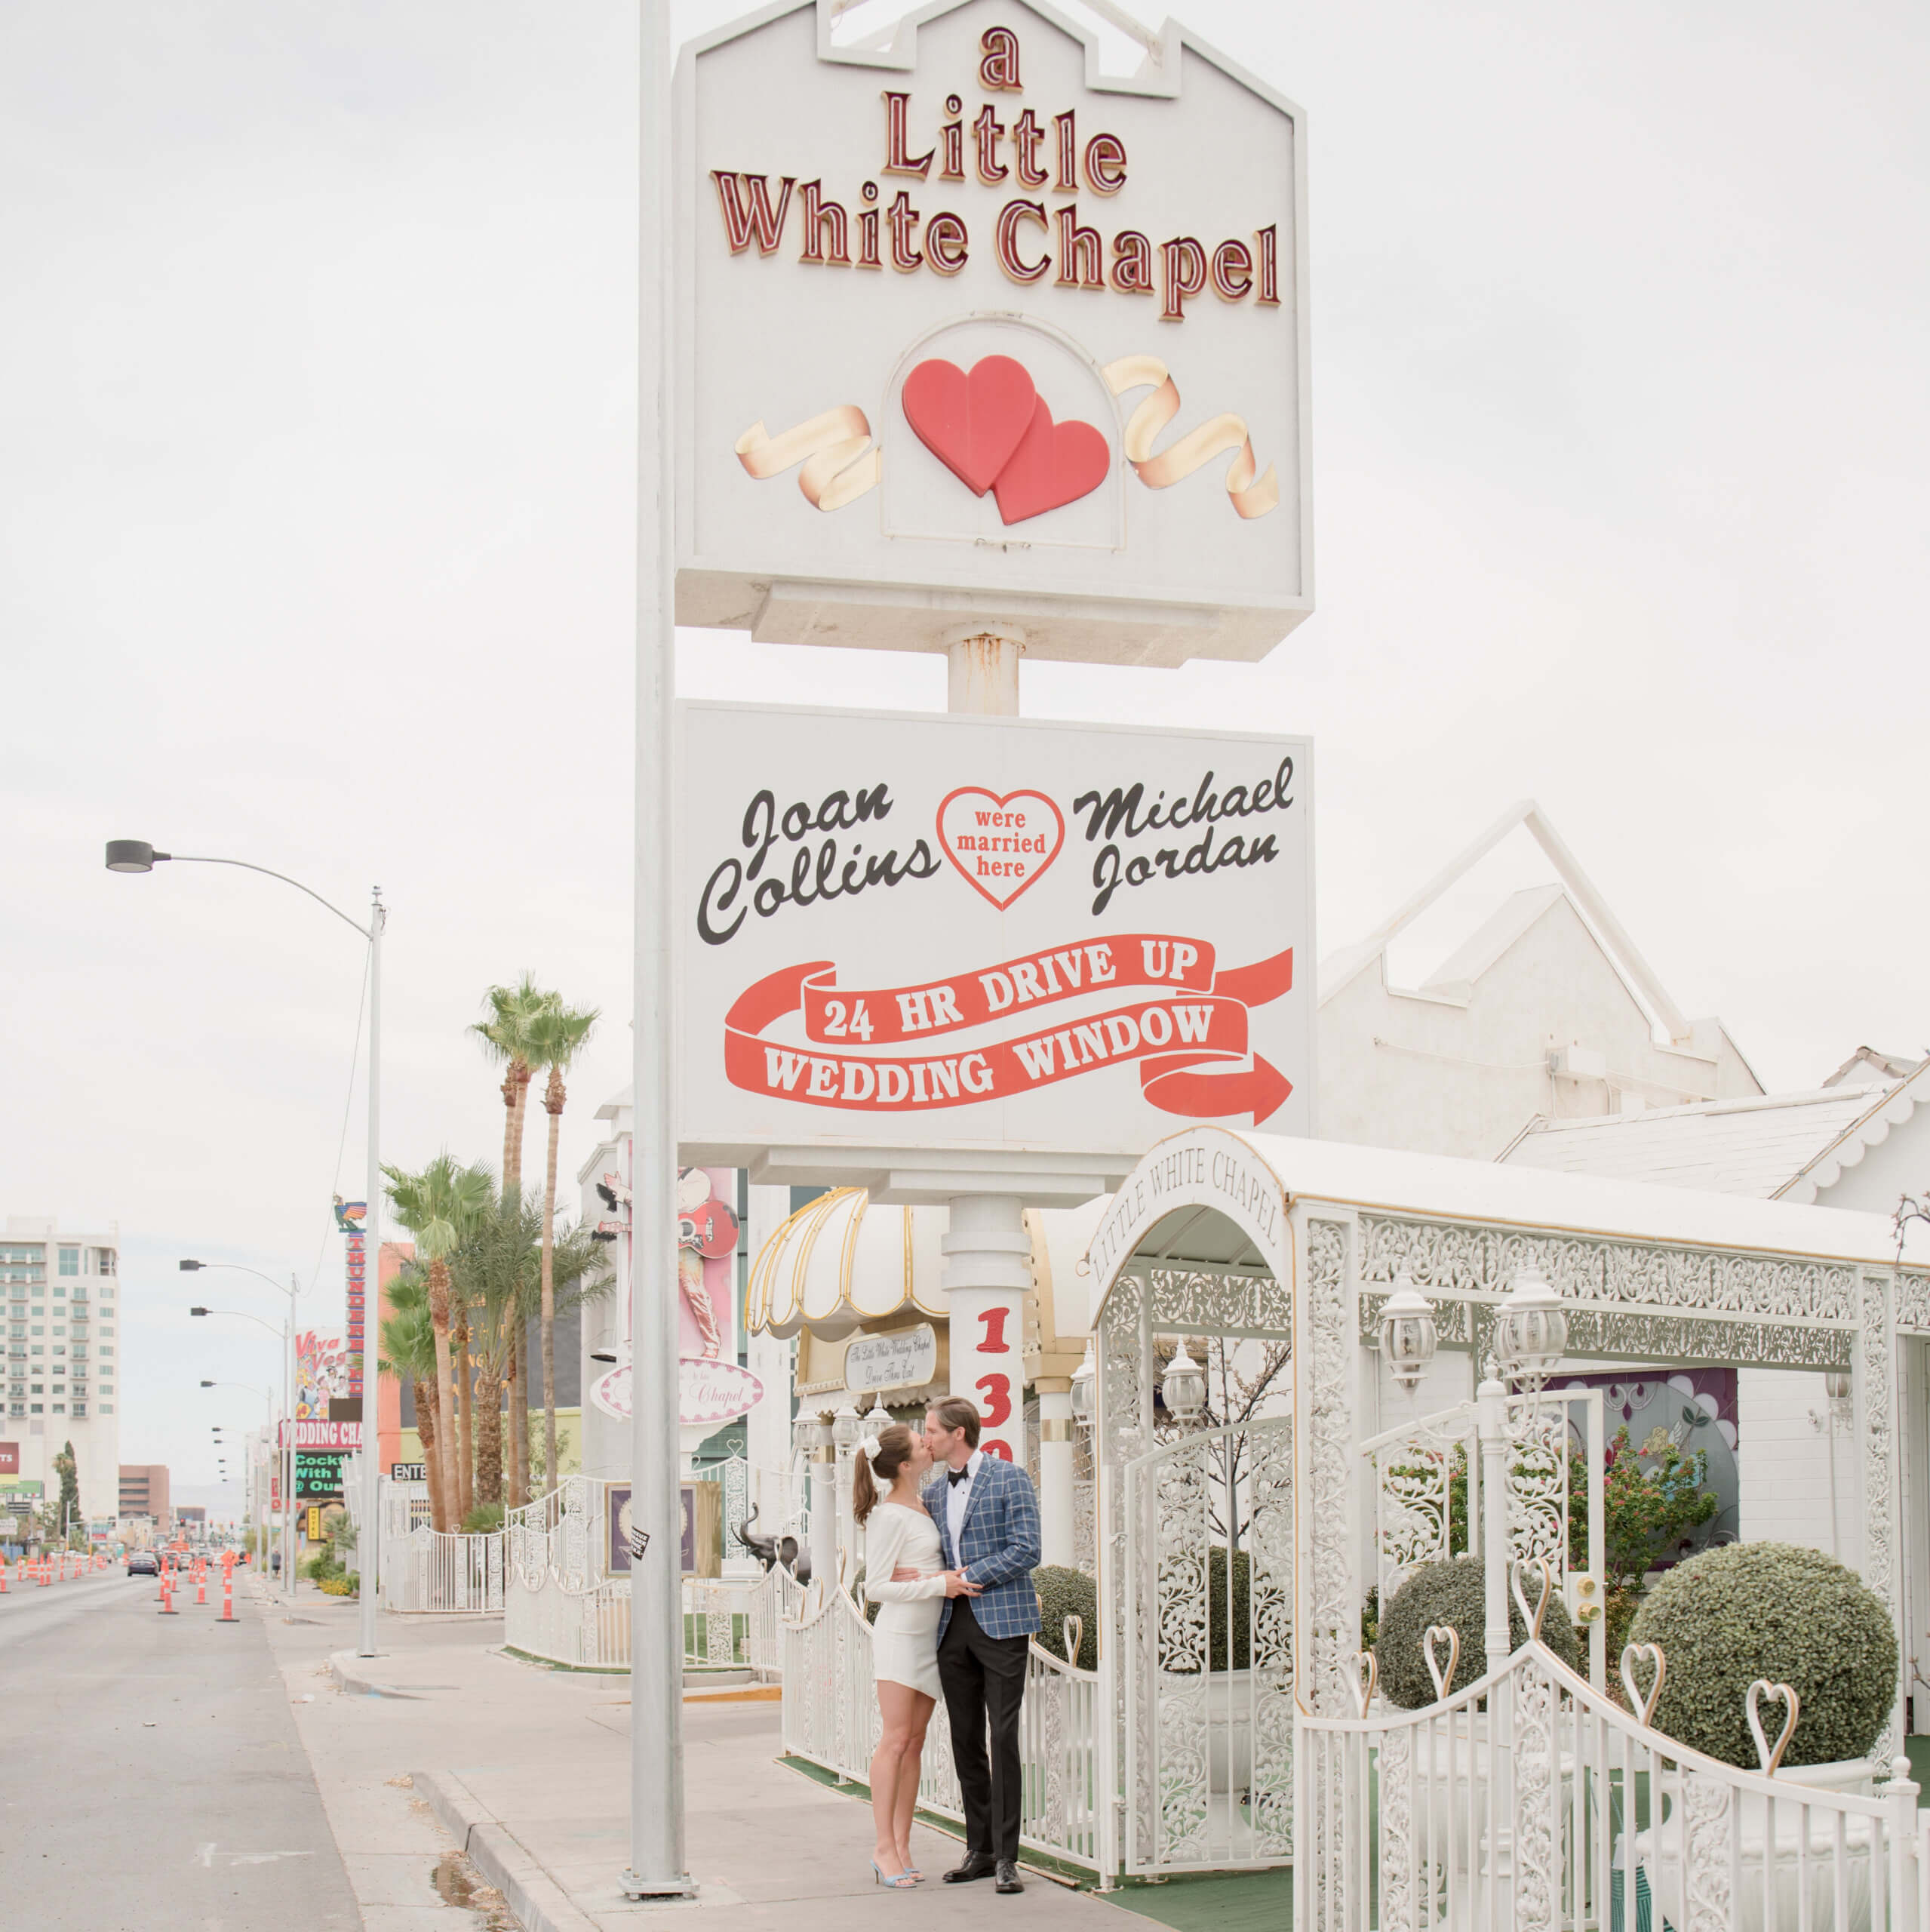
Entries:
[[925,1884],[879,1888],[869,1810],[775,1762],[779,1708],[769,1698],[684,1704],[699,1897],[632,1903],[618,1889],[630,1849],[626,1679],[522,1663],[493,1648],[500,1623],[456,1619],[384,1617],[386,1654],[359,1662],[352,1605],[303,1602],[296,1615],[303,1621],[270,1621],[270,1644],[369,1932],[452,1932],[462,1922],[425,1895],[423,1874],[448,1843],[423,1803],[506,1893],[524,1932],[636,1928],[667,1915],[684,1915],[690,1932],[883,1932],[887,1915],[894,1926],[960,1932],[966,1922],[1007,1932],[1122,1924],[1090,1893],[1034,1874],[1022,1897],[939,1884],[960,1845],[925,1828],[914,1835]]

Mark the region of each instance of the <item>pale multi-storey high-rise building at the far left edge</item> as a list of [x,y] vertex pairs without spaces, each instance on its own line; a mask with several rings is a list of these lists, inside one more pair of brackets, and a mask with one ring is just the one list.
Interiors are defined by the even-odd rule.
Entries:
[[21,1482],[60,1495],[54,1457],[73,1443],[81,1509],[120,1505],[120,1231],[66,1231],[8,1215],[0,1235],[6,1308],[6,1439],[19,1443]]

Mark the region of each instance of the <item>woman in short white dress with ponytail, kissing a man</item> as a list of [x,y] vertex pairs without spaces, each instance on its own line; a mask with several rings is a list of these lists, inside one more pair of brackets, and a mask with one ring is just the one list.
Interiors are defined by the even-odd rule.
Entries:
[[939,1526],[918,1495],[931,1470],[923,1437],[902,1422],[864,1443],[852,1470],[852,1513],[864,1528],[864,1594],[879,1605],[871,1627],[871,1675],[881,1716],[871,1754],[871,1870],[883,1886],[916,1886],[912,1812],[925,1725],[939,1700],[939,1605],[976,1596],[939,1561]]

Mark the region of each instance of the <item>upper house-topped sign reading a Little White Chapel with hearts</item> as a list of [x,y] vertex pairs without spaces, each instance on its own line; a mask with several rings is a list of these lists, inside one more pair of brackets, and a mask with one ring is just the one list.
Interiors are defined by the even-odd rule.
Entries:
[[1178,665],[1312,609],[1300,112],[1105,52],[1008,0],[686,48],[680,624]]

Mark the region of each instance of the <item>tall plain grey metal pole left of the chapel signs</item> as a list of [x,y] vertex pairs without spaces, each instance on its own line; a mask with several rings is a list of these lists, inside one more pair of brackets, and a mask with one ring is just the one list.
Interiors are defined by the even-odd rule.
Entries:
[[676,1490],[676,1122],[670,827],[676,672],[670,468],[670,8],[641,0],[638,236],[636,1124],[630,1208],[630,1897],[688,1897]]

